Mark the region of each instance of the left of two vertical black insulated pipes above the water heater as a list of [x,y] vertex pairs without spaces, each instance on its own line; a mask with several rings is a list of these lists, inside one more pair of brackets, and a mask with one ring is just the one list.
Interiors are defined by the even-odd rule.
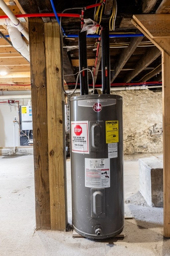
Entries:
[[[87,44],[86,44],[87,32],[79,32],[78,45],[79,45],[79,71],[87,68]],[[89,94],[88,89],[88,70],[84,70],[80,73],[80,95]]]

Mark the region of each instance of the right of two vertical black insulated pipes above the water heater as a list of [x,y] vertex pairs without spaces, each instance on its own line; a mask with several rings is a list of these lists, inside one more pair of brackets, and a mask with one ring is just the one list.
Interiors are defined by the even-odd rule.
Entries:
[[110,94],[110,47],[109,29],[101,31],[102,47],[102,93]]

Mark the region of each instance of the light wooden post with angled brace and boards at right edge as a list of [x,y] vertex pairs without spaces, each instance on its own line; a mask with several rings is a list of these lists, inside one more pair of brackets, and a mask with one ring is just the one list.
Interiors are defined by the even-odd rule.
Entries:
[[[165,1],[163,1],[165,2]],[[133,15],[131,22],[162,51],[164,237],[170,237],[170,14]],[[168,29],[166,29],[168,28]]]

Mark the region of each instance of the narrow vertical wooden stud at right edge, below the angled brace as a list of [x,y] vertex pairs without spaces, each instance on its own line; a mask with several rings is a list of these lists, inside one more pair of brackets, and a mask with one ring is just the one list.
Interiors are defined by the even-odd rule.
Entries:
[[162,52],[164,237],[170,237],[170,56]]

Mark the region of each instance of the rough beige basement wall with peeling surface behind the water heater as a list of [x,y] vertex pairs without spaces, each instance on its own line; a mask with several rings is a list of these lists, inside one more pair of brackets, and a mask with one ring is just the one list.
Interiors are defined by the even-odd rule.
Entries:
[[[162,92],[121,90],[111,94],[123,97],[124,154],[162,153]],[[80,94],[74,94],[77,95]],[[69,123],[69,154],[68,128]]]

